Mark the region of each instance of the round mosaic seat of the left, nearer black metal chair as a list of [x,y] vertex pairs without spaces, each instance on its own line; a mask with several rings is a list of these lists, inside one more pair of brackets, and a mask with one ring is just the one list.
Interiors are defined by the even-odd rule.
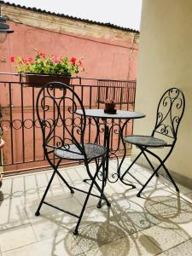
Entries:
[[[81,154],[79,148],[75,144],[67,146],[68,148],[56,148],[55,155],[68,160],[84,160],[84,154]],[[96,144],[84,144],[84,150],[87,159],[95,159],[106,154],[106,148]]]

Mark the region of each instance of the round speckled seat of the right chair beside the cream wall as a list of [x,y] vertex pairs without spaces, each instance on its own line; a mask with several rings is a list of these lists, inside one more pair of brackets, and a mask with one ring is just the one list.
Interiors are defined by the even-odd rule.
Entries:
[[151,136],[140,136],[140,135],[133,135],[124,137],[126,143],[131,143],[134,145],[146,146],[146,147],[165,147],[167,143],[163,140],[160,140],[156,137]]

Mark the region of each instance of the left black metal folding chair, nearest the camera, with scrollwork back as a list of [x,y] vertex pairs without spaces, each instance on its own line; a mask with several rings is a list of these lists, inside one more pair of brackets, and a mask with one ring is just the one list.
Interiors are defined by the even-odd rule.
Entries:
[[[79,96],[74,92],[73,88],[61,84],[59,82],[52,82],[44,85],[38,92],[37,97],[37,115],[43,132],[43,148],[46,160],[49,165],[53,168],[53,174],[50,177],[47,188],[45,189],[42,200],[38,206],[38,210],[35,213],[36,216],[40,214],[40,209],[43,204],[49,207],[55,207],[54,205],[45,201],[45,196],[49,190],[50,184],[52,183],[55,174],[57,174],[61,180],[67,185],[67,188],[74,193],[74,189],[77,189],[85,194],[85,201],[82,210],[79,215],[73,212],[68,212],[60,207],[55,207],[62,212],[73,215],[78,218],[75,229],[73,230],[74,235],[79,233],[79,224],[84,214],[87,201],[90,195],[94,195],[102,200],[106,201],[108,207],[110,203],[103,193],[104,189],[104,157],[106,154],[106,148],[96,145],[95,143],[84,143],[84,131],[86,126],[86,116],[84,113],[84,106],[79,99]],[[79,117],[76,115],[76,110],[81,109],[83,116]],[[67,180],[61,176],[58,168],[61,164],[61,160],[76,160],[84,162],[85,169],[90,177],[90,188],[88,191],[74,188],[72,185],[67,183]],[[91,174],[89,163],[95,160],[96,172],[94,175]],[[96,183],[96,177],[98,172],[102,172],[102,185]],[[91,193],[93,185],[99,191],[99,195]],[[100,207],[100,203],[98,207]]]

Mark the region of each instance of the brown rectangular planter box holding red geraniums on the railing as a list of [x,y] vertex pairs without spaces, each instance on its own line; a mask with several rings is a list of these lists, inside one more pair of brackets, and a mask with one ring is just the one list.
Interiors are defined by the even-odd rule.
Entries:
[[70,77],[65,77],[61,75],[38,75],[26,74],[26,86],[27,87],[42,87],[44,84],[48,84],[49,82],[61,82],[63,84],[70,84]]

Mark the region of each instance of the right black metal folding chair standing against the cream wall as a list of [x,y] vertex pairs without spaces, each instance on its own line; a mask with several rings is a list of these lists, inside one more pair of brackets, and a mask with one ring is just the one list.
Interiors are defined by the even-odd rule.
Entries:
[[[125,174],[129,173],[131,177],[134,177],[138,183],[143,185],[143,188],[140,189],[137,193],[138,197],[143,192],[143,189],[148,185],[152,177],[154,177],[154,175],[156,175],[157,177],[159,176],[158,171],[160,170],[161,166],[165,169],[167,177],[172,181],[176,191],[179,191],[179,189],[177,188],[177,184],[174,182],[170,172],[165,166],[165,162],[172,154],[172,150],[177,142],[177,129],[181,119],[183,118],[184,108],[185,100],[183,92],[177,88],[171,88],[169,90],[166,90],[166,92],[160,98],[160,102],[157,108],[156,123],[154,125],[154,131],[152,132],[151,136],[133,135],[129,137],[124,137],[125,142],[136,145],[137,148],[141,150],[140,154],[138,154],[136,159],[133,160],[133,162],[131,163],[131,166],[133,166],[138,158],[143,154],[148,161],[149,166],[151,166],[152,170],[154,171],[145,184],[140,183],[137,177],[131,174],[131,166],[129,166],[122,175],[122,178],[124,178]],[[161,159],[160,156],[154,154],[154,152],[151,151],[150,148],[168,148],[168,153],[163,159]],[[160,166],[154,168],[151,160],[149,160],[148,158],[148,155],[152,155],[154,156],[154,158],[159,160]]]

